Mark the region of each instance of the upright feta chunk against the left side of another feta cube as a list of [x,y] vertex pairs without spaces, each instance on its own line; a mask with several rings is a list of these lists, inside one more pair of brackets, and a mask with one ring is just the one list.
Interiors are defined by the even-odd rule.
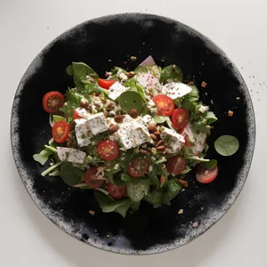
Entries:
[[75,134],[79,147],[88,146],[91,143],[93,134],[89,128],[89,122],[85,118],[76,119]]

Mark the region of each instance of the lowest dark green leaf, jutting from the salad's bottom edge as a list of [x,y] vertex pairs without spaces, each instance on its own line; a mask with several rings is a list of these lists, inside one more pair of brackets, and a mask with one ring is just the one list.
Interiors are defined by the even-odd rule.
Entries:
[[125,218],[126,212],[131,205],[130,199],[115,201],[109,196],[106,196],[105,194],[96,190],[93,192],[93,194],[94,197],[97,199],[99,205],[101,206],[101,210],[103,213],[116,212],[118,214],[121,214]]

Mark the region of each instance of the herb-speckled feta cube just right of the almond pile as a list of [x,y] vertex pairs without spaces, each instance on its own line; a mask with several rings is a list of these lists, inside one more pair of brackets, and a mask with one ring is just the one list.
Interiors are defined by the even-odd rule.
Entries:
[[181,134],[177,134],[173,129],[166,127],[164,127],[164,131],[161,133],[161,138],[165,143],[167,153],[180,152],[185,143]]

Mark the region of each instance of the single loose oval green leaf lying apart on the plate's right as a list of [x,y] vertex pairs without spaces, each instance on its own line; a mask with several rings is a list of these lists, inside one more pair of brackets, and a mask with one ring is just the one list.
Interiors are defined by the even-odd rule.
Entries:
[[222,156],[231,156],[239,150],[239,140],[231,135],[222,135],[214,142],[215,150]]

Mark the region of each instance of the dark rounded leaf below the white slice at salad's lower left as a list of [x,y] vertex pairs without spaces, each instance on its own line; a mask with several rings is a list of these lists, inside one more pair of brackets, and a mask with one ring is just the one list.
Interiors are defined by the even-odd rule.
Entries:
[[70,162],[63,162],[61,166],[61,178],[69,186],[81,182],[84,172],[72,165]]

